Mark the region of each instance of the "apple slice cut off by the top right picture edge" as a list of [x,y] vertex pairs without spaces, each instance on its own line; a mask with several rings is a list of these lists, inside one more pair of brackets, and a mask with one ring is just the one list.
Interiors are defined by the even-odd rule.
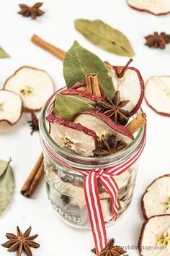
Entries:
[[128,0],[128,5],[141,12],[163,15],[170,12],[169,0]]

